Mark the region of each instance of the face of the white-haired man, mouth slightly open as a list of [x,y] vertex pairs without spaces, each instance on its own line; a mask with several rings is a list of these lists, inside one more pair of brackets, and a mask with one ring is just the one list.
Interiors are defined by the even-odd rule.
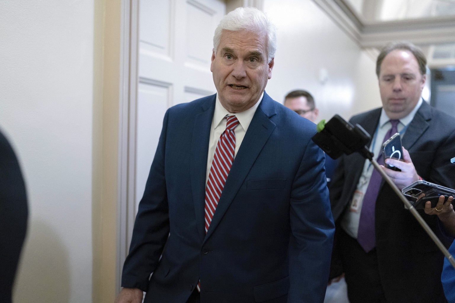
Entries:
[[251,108],[272,77],[266,40],[266,35],[251,31],[222,32],[210,70],[220,102],[231,113]]

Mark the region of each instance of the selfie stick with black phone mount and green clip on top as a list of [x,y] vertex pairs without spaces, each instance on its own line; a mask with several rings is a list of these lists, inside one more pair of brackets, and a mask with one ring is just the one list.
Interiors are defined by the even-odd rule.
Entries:
[[374,159],[374,154],[365,146],[371,139],[370,135],[359,124],[356,124],[354,127],[337,114],[327,123],[325,123],[325,120],[319,122],[316,129],[318,130],[318,133],[313,136],[313,142],[324,150],[332,159],[337,159],[342,154],[349,155],[354,152],[359,152],[368,159],[379,174],[381,174],[382,178],[384,178],[385,182],[390,185],[401,201],[403,201],[406,209],[409,209],[417,222],[425,229],[425,232],[428,233],[433,242],[435,242],[436,246],[438,246],[440,251],[445,255],[445,258],[447,258],[453,268],[455,268],[455,259],[445,248],[444,244],[442,244],[415,207],[404,197],[384,170],[381,169],[378,162]]

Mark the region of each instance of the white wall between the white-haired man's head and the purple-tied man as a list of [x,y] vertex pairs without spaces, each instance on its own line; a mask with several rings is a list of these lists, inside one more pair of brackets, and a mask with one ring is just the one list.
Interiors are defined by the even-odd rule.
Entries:
[[[278,28],[278,49],[267,93],[283,102],[294,89],[313,94],[320,119],[381,106],[375,63],[311,0],[264,0]],[[325,84],[319,81],[326,70]]]

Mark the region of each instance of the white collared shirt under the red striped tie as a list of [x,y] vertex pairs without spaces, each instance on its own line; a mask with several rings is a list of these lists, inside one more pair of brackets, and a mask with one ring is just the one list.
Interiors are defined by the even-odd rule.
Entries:
[[213,113],[212,118],[212,126],[210,128],[210,139],[208,141],[208,154],[207,154],[207,170],[206,170],[206,177],[205,183],[207,184],[208,174],[210,173],[210,168],[212,167],[213,156],[215,154],[215,149],[217,149],[218,140],[222,132],[226,129],[226,115],[233,116],[235,115],[238,119],[238,125],[235,128],[235,152],[234,152],[234,159],[237,155],[238,149],[240,148],[240,144],[242,144],[243,137],[245,137],[245,133],[248,130],[248,126],[253,119],[254,113],[256,109],[258,109],[259,104],[262,101],[264,96],[264,92],[262,92],[261,96],[259,97],[259,101],[256,102],[251,108],[240,112],[240,113],[230,113],[225,109],[220,99],[218,98],[215,101],[215,112]]

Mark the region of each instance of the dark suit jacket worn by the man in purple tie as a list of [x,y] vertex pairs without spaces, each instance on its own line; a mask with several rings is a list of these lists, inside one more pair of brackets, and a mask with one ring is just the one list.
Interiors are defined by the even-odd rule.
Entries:
[[[373,109],[354,116],[350,122],[360,124],[373,137],[380,114],[380,108]],[[453,117],[423,102],[406,129],[402,144],[420,177],[454,188],[455,169],[450,163],[455,154]],[[349,208],[364,163],[358,153],[338,160],[330,184],[335,221]],[[437,216],[427,215],[423,209],[419,213],[443,243],[450,245],[451,239],[441,233]],[[443,254],[384,180],[376,199],[375,233],[379,275],[387,302],[445,302],[440,282]]]

